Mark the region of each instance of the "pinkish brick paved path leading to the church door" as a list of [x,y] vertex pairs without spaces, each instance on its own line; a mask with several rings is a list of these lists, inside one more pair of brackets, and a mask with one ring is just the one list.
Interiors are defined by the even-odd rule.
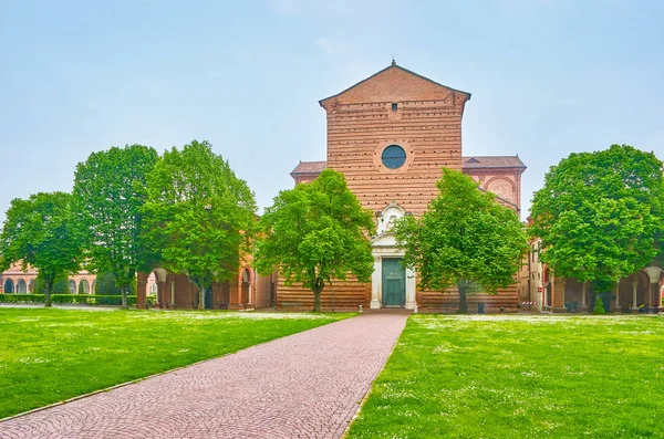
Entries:
[[339,438],[406,318],[294,334],[0,422],[0,438]]

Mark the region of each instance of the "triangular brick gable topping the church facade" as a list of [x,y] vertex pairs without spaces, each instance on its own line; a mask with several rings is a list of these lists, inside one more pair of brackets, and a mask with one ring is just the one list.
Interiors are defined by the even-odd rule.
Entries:
[[455,102],[458,98],[460,102],[470,98],[470,93],[439,84],[393,62],[382,71],[319,103],[326,108],[330,103],[436,101],[449,97],[450,94],[458,95]]

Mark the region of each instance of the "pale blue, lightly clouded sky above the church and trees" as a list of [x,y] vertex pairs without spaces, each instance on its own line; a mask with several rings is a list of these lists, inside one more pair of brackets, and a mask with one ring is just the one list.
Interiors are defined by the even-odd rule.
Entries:
[[209,140],[262,208],[325,159],[318,101],[397,64],[470,92],[465,156],[664,159],[664,2],[0,0],[0,221],[97,150]]

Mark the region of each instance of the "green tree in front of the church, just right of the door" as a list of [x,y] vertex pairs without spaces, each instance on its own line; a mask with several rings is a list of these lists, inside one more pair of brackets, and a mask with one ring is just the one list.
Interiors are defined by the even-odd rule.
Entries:
[[515,282],[528,251],[526,232],[513,210],[483,191],[468,176],[443,168],[439,195],[419,218],[395,224],[404,263],[417,272],[419,289],[444,291],[456,285],[459,312],[478,286],[488,293]]

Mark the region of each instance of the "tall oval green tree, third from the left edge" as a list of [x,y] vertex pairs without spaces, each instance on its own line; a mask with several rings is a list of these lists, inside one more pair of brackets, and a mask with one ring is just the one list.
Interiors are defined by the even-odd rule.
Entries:
[[237,279],[256,230],[256,201],[207,142],[164,153],[148,176],[147,238],[162,265],[185,273],[198,307],[214,282]]

